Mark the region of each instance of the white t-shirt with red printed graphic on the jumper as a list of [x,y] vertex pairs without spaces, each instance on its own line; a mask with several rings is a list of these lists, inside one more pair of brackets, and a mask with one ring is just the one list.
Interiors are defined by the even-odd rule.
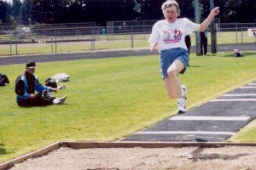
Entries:
[[177,19],[174,23],[169,23],[167,20],[157,21],[149,37],[150,44],[158,42],[158,50],[170,48],[185,48],[185,36],[191,34],[193,31],[199,31],[200,25],[196,24],[186,18]]

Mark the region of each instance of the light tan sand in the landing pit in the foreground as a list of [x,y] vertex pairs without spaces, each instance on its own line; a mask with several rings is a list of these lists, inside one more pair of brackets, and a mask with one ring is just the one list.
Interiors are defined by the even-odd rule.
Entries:
[[233,169],[256,170],[255,146],[220,148],[61,148],[15,165],[18,169]]

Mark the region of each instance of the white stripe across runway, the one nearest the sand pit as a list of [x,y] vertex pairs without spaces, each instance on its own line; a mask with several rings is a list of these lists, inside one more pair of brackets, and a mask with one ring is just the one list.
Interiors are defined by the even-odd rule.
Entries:
[[209,132],[209,131],[149,131],[149,132],[138,132],[136,134],[224,134],[233,135],[233,132]]

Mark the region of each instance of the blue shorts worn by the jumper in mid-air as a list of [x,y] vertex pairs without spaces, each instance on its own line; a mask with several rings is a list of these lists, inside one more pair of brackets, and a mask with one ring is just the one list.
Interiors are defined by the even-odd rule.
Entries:
[[168,77],[167,70],[175,59],[178,59],[183,63],[184,69],[180,72],[183,74],[189,65],[188,50],[184,48],[171,48],[160,52],[160,71],[163,79]]

